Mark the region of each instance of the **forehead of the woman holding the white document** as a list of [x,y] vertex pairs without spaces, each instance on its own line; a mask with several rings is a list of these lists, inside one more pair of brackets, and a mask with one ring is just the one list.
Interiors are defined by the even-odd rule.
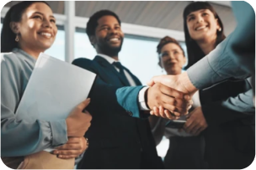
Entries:
[[24,14],[31,15],[35,12],[40,12],[45,15],[52,15],[51,8],[45,3],[32,3],[28,8],[26,8]]

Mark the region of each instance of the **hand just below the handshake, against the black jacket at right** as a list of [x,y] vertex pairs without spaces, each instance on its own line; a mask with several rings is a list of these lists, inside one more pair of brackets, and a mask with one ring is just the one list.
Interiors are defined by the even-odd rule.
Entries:
[[205,116],[201,107],[196,107],[195,110],[189,113],[189,118],[184,124],[184,130],[194,136],[198,136],[201,131],[204,131],[207,127]]

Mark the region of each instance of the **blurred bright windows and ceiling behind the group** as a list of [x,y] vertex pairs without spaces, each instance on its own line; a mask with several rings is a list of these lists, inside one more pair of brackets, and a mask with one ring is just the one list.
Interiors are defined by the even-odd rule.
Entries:
[[[1,28],[8,8],[19,1],[6,3],[1,10]],[[165,74],[158,66],[157,44],[168,35],[184,44],[183,10],[189,1],[46,1],[53,9],[58,26],[55,44],[45,51],[57,59],[72,62],[77,58],[93,59],[96,52],[85,33],[88,18],[101,9],[109,9],[120,17],[125,33],[120,61],[146,85],[153,75]],[[225,34],[232,33],[236,21],[228,1],[210,1],[224,23]],[[4,43],[4,42],[2,42]],[[141,69],[141,67],[143,69]],[[164,157],[168,140],[157,146],[158,155]]]

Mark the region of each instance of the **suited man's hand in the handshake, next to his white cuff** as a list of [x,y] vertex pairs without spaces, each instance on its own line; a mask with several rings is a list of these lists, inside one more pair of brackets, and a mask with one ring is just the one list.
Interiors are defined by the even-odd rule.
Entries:
[[192,100],[190,100],[189,95],[184,95],[182,92],[160,83],[149,87],[146,95],[147,106],[149,106],[151,110],[159,106],[163,106],[168,110],[165,111],[165,114],[155,114],[156,116],[163,116],[163,118],[176,119],[179,118],[179,116],[186,115],[189,111],[189,107],[192,105]]

